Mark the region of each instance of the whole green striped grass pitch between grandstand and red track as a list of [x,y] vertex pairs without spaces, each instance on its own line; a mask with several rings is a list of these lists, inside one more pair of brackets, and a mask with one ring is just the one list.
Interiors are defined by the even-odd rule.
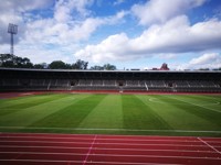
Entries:
[[221,96],[45,94],[0,99],[0,132],[221,136]]

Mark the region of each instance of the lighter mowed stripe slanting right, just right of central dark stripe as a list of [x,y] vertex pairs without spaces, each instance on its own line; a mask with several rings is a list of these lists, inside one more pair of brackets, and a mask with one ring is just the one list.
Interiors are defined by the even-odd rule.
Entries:
[[[219,130],[219,127],[210,121],[191,113],[192,105],[172,99],[180,96],[156,95],[146,96],[152,109],[175,130]],[[188,96],[186,96],[188,97]],[[152,102],[150,100],[155,100]]]

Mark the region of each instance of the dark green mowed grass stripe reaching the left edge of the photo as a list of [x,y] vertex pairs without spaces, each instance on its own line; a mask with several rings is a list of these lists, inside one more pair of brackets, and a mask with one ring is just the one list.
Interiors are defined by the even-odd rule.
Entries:
[[27,108],[32,108],[34,106],[39,106],[66,97],[69,97],[69,95],[40,95],[30,96],[30,98],[12,99],[9,102],[0,105],[0,116],[14,113]]

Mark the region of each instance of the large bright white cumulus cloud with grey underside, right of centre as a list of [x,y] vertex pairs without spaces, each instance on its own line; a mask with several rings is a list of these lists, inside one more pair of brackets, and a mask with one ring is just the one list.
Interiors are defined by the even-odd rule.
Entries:
[[135,38],[120,33],[97,45],[88,45],[75,56],[103,61],[135,59],[161,53],[188,53],[220,48],[221,22],[209,20],[190,25],[187,16],[177,16],[162,25],[152,25]]

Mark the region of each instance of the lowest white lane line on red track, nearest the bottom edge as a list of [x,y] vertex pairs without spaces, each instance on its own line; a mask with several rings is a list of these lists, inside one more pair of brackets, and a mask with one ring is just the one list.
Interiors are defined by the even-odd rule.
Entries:
[[[0,160],[0,162],[32,162],[32,163],[82,163],[82,161],[53,161],[53,160]],[[110,164],[110,165],[181,165],[165,163],[129,163],[129,162],[87,162],[87,164]]]

